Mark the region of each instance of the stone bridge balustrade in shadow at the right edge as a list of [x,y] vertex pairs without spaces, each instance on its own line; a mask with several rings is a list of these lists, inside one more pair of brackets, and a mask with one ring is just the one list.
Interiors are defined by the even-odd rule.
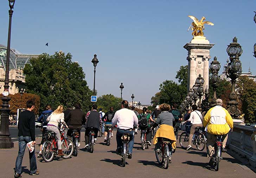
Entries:
[[232,151],[249,160],[251,166],[256,168],[256,128],[234,124],[233,131],[229,133],[228,146]]

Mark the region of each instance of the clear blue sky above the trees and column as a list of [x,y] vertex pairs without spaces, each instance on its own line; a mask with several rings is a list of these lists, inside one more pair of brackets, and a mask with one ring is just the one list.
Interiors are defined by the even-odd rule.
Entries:
[[[175,80],[180,65],[186,65],[183,48],[192,39],[187,31],[192,20],[202,16],[214,26],[205,26],[205,36],[215,46],[210,55],[223,65],[226,47],[233,37],[242,45],[243,72],[256,74],[256,43],[253,21],[255,0],[16,0],[12,19],[11,48],[26,54],[53,54],[62,50],[73,55],[93,89],[93,65],[97,54],[98,95],[120,96],[150,104],[166,79]],[[8,1],[0,1],[0,44],[7,45]],[[45,44],[49,43],[49,47]]]

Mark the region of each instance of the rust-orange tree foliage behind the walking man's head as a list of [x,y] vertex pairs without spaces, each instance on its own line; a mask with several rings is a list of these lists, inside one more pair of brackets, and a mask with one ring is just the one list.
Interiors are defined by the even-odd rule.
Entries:
[[[17,114],[17,109],[18,108],[27,108],[26,107],[26,102],[27,100],[34,100],[35,101],[35,108],[34,108],[34,113],[36,115],[39,114],[38,110],[40,107],[40,97],[36,94],[31,94],[31,93],[23,93],[22,97],[20,93],[16,94],[10,94],[9,97],[11,98],[11,101],[9,101],[10,105],[10,114],[15,115]],[[2,106],[2,100],[0,100],[0,108]]]

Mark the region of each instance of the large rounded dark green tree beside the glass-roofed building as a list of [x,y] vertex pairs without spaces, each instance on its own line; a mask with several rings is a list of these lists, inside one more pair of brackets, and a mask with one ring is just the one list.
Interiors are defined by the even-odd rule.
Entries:
[[53,108],[58,105],[73,106],[79,102],[84,111],[91,108],[92,91],[85,80],[85,73],[78,63],[71,61],[70,53],[55,52],[54,55],[42,54],[26,64],[26,87],[29,93],[40,96],[40,111],[45,105]]

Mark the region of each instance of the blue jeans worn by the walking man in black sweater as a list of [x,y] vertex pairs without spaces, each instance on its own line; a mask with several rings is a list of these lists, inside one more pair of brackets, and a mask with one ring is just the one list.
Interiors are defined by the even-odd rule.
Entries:
[[[15,172],[21,174],[21,164],[24,156],[24,152],[27,147],[27,143],[31,142],[31,137],[29,136],[19,136],[19,152],[15,163]],[[36,173],[37,171],[37,162],[35,156],[35,150],[33,152],[29,152],[29,160],[30,160],[30,173]]]

